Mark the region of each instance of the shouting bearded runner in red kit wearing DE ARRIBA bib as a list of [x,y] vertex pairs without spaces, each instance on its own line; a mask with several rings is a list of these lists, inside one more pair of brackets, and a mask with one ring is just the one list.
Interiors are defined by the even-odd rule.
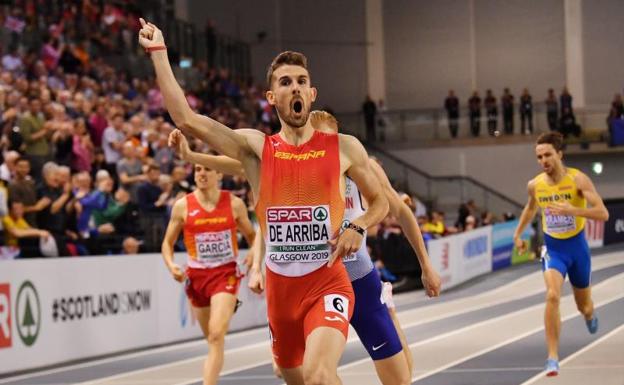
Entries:
[[[340,384],[338,361],[354,302],[342,257],[359,249],[364,229],[388,211],[366,151],[352,136],[315,131],[308,121],[316,89],[302,54],[279,54],[267,73],[266,97],[277,109],[280,133],[234,131],[191,110],[173,76],[162,33],[142,19],[141,25],[139,42],[151,53],[176,125],[245,169],[268,250],[269,328],[284,379],[289,385]],[[345,174],[369,207],[340,232]]]

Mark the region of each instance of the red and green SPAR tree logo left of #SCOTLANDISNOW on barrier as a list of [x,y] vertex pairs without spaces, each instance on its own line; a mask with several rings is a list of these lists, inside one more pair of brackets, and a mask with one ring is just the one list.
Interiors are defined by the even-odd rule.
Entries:
[[11,285],[0,284],[0,349],[13,345],[11,328],[12,313],[20,340],[32,346],[41,330],[41,302],[37,289],[30,281],[24,281],[17,291],[15,308],[11,307]]

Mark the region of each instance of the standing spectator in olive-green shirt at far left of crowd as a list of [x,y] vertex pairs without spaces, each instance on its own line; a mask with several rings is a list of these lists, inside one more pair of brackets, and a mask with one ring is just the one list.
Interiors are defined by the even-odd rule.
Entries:
[[50,125],[44,125],[41,101],[30,99],[29,110],[19,120],[19,132],[24,139],[24,153],[30,159],[35,179],[41,175],[41,167],[50,157]]

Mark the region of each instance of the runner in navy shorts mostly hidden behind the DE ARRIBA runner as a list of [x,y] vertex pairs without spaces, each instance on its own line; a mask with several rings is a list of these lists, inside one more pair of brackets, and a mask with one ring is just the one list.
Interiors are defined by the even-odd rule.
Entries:
[[[314,128],[319,131],[328,133],[336,133],[338,131],[338,122],[327,112],[312,111],[310,121]],[[225,156],[200,154],[191,151],[188,142],[179,130],[174,130],[169,135],[169,143],[176,148],[183,160],[200,163],[223,173],[244,176],[242,165],[237,160]],[[390,203],[391,214],[397,217],[399,224],[419,256],[419,262],[423,271],[422,281],[427,294],[432,297],[437,296],[440,290],[440,278],[430,264],[429,256],[414,215],[392,188],[379,164],[371,160],[370,165],[371,170],[382,183],[384,193]],[[350,220],[362,215],[366,210],[365,202],[357,186],[349,178],[347,178],[346,183],[343,227],[346,227]],[[262,247],[260,246],[260,249]],[[250,288],[258,292],[261,291],[262,285],[259,258],[264,253],[261,250],[256,250],[254,254],[257,256],[257,260],[253,261],[249,283]],[[373,266],[366,246],[362,245],[355,254],[346,256],[343,261],[355,293],[355,308],[351,318],[351,325],[353,325],[360,340],[374,360],[380,380],[383,384],[411,383],[411,351],[400,329],[391,297],[387,298],[386,295],[382,299],[381,280]],[[391,292],[388,294],[391,296]],[[386,302],[385,305],[382,302],[384,300]],[[403,351],[403,354],[400,354],[401,351]],[[279,372],[276,372],[279,375]]]

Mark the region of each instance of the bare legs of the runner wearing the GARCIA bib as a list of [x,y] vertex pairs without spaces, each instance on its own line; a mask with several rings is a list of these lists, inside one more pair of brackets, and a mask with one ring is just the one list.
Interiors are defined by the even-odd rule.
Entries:
[[229,293],[217,293],[210,298],[210,306],[195,308],[197,320],[208,341],[208,357],[204,361],[204,385],[213,385],[219,379],[223,367],[223,349],[225,333],[234,308],[236,296]]

